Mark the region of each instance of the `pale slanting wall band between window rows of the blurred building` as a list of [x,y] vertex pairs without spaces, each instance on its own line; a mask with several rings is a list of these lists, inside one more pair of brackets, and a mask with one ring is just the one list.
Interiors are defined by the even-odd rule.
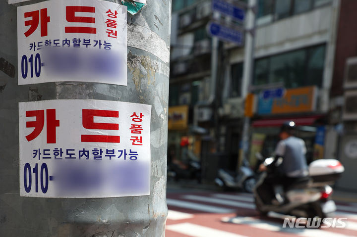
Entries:
[[[255,58],[328,43],[333,16],[333,5],[327,5],[273,23],[258,25]],[[232,49],[230,54],[231,64],[243,61],[242,48]]]

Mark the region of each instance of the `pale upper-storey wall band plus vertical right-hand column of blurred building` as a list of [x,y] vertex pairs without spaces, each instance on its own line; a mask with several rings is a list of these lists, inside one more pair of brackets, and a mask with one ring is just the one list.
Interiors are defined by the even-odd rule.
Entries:
[[[328,111],[329,91],[335,56],[335,43],[340,0],[272,23],[256,26],[254,57],[326,44],[323,85],[319,90],[318,110]],[[257,20],[259,23],[259,20]],[[260,21],[262,22],[262,21]],[[230,64],[244,61],[244,48],[230,51]]]

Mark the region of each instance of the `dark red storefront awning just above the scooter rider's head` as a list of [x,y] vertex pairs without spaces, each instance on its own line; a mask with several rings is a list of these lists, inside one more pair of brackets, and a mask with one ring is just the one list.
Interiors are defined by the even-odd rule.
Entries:
[[252,122],[253,127],[279,127],[286,121],[294,121],[297,126],[313,125],[316,119],[321,118],[321,115],[309,116],[309,117],[290,117],[282,119],[260,119]]

